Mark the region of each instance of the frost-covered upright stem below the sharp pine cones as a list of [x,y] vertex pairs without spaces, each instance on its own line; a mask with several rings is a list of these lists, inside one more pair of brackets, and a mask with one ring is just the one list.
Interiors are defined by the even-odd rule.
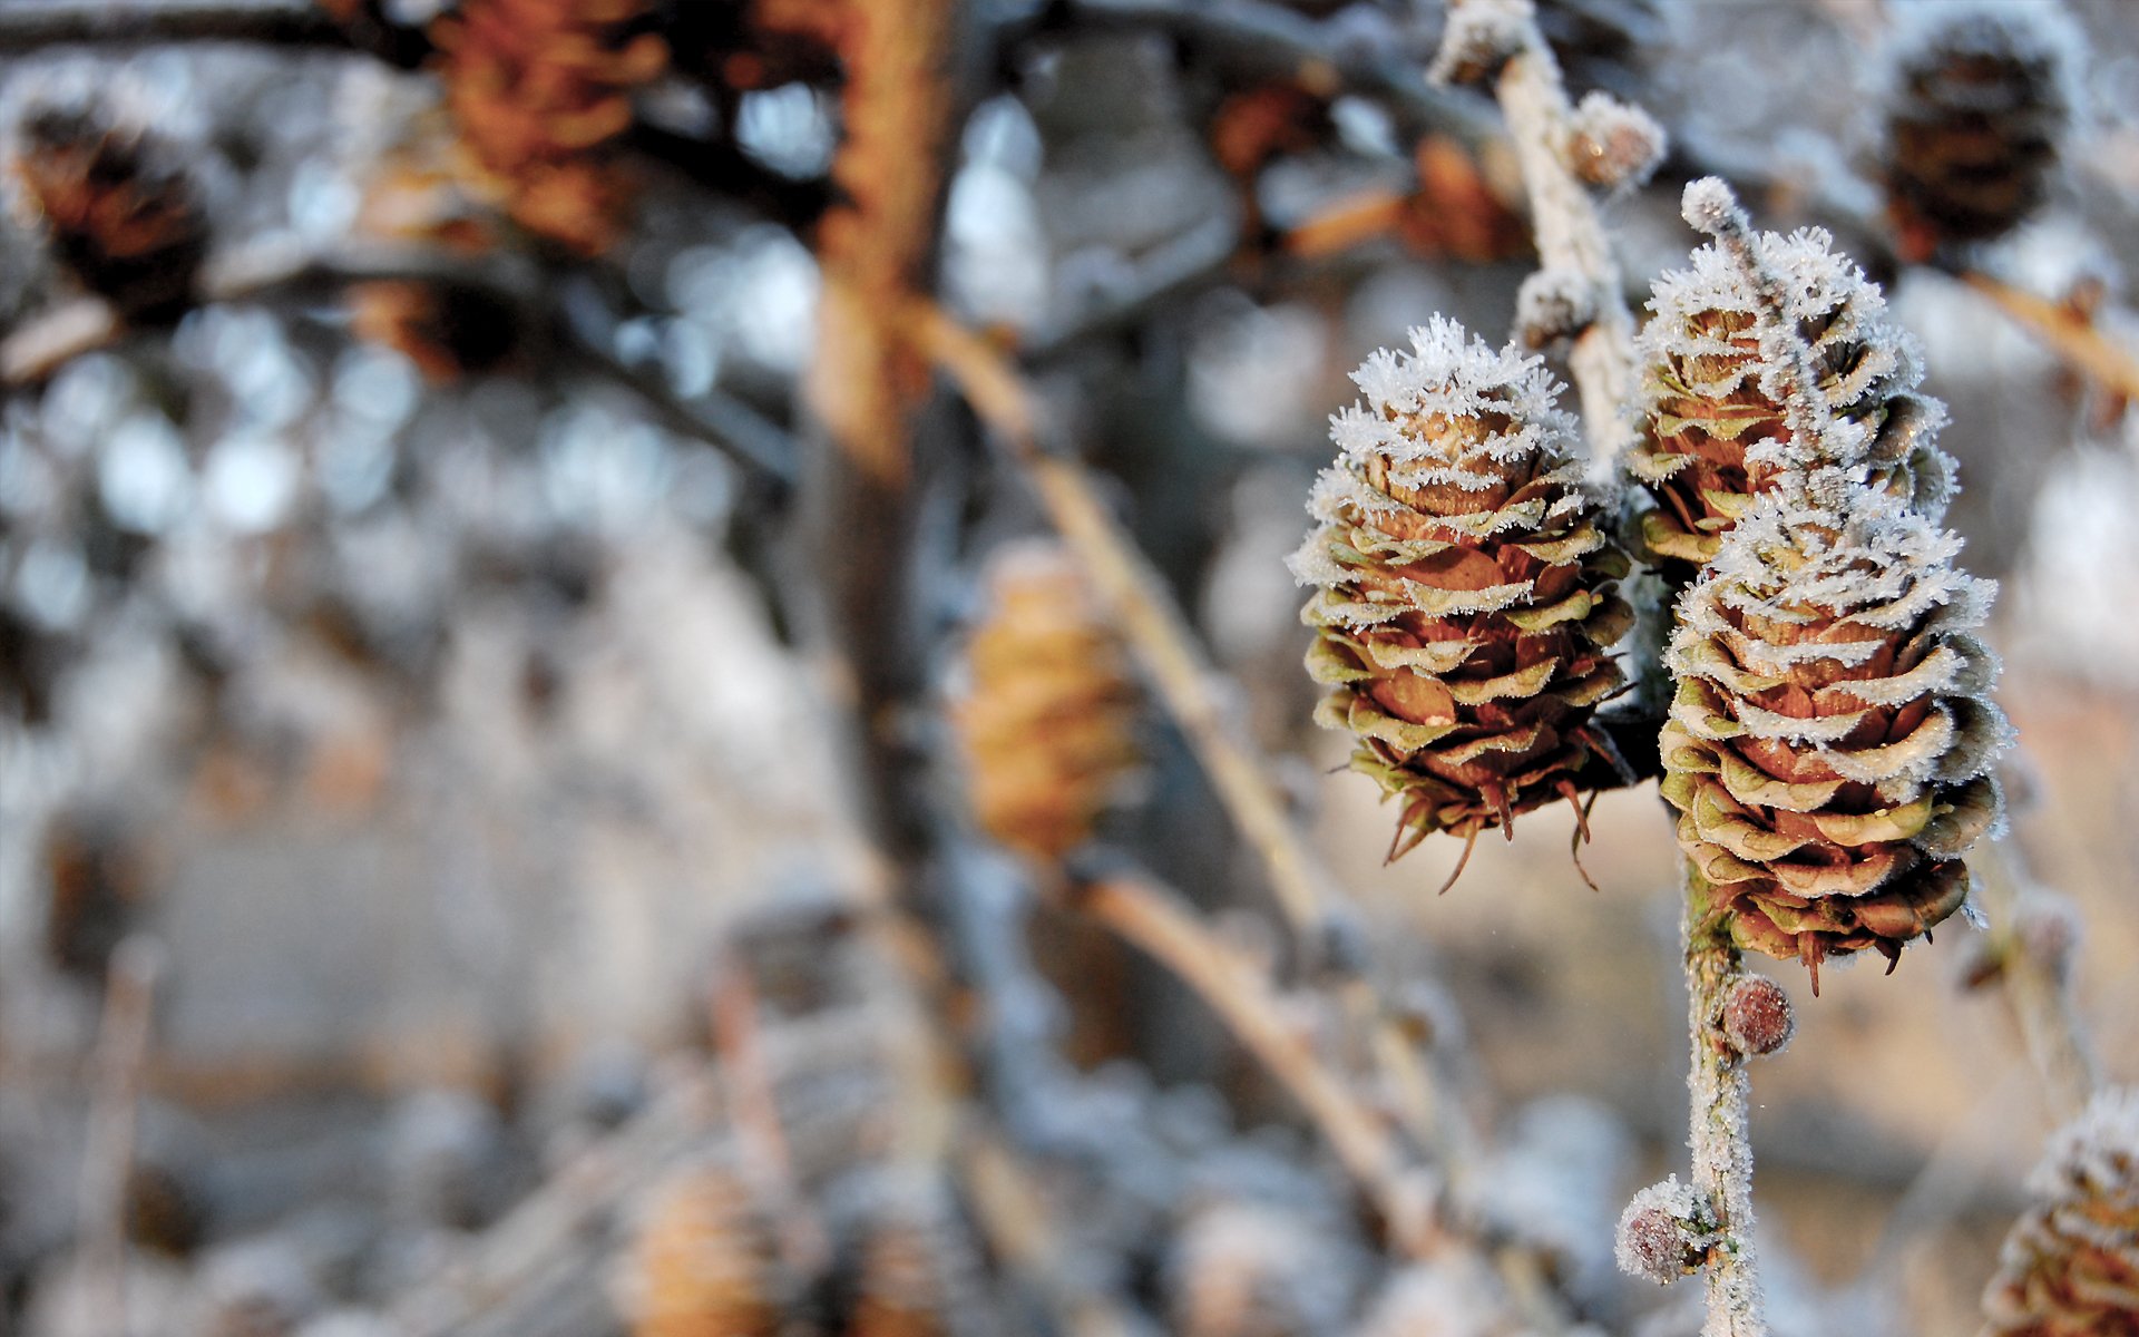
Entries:
[[1739,975],[1728,911],[1709,909],[1709,883],[1690,860],[1686,871],[1686,1005],[1692,1035],[1694,1185],[1707,1194],[1722,1224],[1709,1249],[1709,1320],[1703,1337],[1767,1337],[1760,1275],[1752,1241],[1752,1080],[1745,1057],[1724,1038],[1724,997]]

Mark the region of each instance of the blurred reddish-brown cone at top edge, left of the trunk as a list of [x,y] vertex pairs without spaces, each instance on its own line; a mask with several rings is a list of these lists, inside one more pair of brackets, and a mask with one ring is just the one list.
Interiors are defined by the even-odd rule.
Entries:
[[528,231],[580,255],[607,250],[631,205],[605,150],[631,126],[631,92],[667,68],[642,30],[648,0],[464,0],[438,19],[445,90],[488,188]]

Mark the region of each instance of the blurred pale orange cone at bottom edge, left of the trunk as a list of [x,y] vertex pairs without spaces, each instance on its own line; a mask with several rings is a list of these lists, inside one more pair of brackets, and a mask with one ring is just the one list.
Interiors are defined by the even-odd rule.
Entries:
[[787,1286],[770,1224],[732,1170],[667,1187],[631,1256],[633,1337],[772,1337]]

